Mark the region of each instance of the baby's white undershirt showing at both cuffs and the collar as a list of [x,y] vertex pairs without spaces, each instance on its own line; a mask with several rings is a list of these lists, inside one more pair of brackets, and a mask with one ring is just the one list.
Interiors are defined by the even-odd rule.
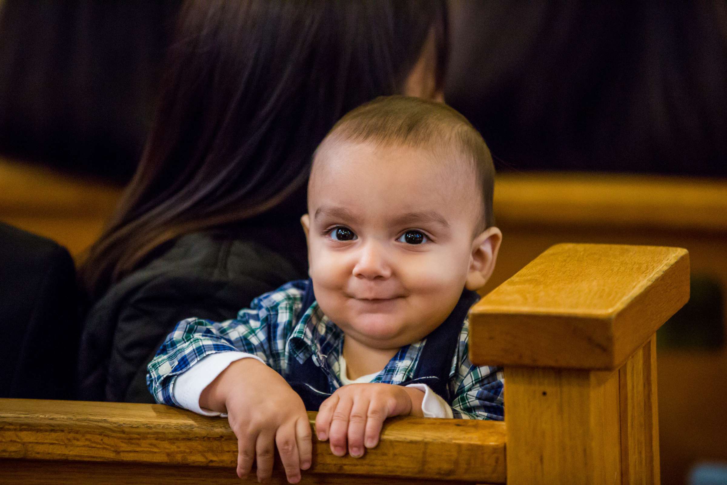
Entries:
[[[199,406],[199,398],[204,388],[206,388],[223,370],[227,369],[230,364],[234,361],[238,361],[241,358],[254,358],[265,364],[257,356],[251,353],[244,352],[219,352],[213,353],[212,355],[206,356],[198,361],[196,364],[191,366],[187,371],[182,372],[174,380],[172,387],[172,395],[174,401],[177,401],[180,406],[190,411],[202,414],[203,416],[222,416],[225,417],[227,414],[209,409],[204,409]],[[346,376],[346,361],[341,355],[339,360],[340,365],[340,380],[343,385],[358,384],[363,382],[371,382],[375,374],[368,374],[358,377],[356,380],[350,380]],[[449,417],[451,418],[452,410],[449,404],[444,401],[443,398],[438,396],[428,385],[425,384],[409,384],[407,388],[414,388],[421,390],[424,393],[424,399],[422,401],[422,412],[424,417]]]

